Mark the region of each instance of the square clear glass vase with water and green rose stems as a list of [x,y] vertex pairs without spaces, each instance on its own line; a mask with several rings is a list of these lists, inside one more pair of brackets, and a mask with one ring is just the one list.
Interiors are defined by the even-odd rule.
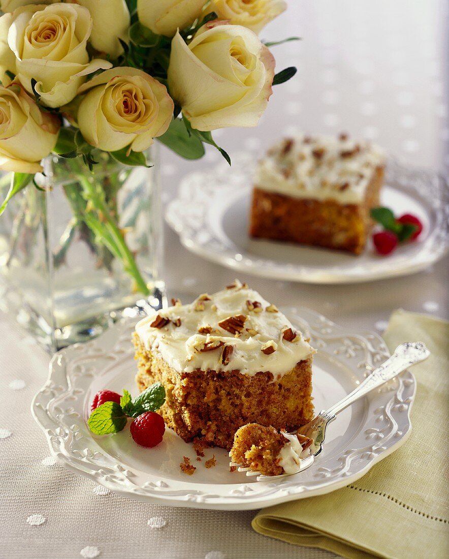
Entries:
[[151,168],[94,153],[90,170],[51,155],[0,217],[2,301],[50,351],[163,305],[159,161],[146,155]]

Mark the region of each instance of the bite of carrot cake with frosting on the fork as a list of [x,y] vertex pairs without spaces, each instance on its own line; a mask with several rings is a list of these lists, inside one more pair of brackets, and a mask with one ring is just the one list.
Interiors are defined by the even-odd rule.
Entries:
[[266,476],[295,473],[309,456],[313,439],[300,434],[280,433],[256,423],[237,430],[229,456],[233,463]]

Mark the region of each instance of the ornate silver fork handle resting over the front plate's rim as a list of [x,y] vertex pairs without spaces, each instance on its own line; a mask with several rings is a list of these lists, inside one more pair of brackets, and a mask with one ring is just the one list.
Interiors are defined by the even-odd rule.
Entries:
[[340,402],[333,405],[324,412],[332,419],[340,413],[340,411],[350,406],[356,400],[359,400],[371,390],[382,386],[385,382],[391,380],[395,376],[405,371],[411,365],[424,361],[430,355],[429,350],[422,342],[406,342],[398,345],[395,352],[380,367],[372,371],[371,375],[359,385],[350,394],[345,396]]

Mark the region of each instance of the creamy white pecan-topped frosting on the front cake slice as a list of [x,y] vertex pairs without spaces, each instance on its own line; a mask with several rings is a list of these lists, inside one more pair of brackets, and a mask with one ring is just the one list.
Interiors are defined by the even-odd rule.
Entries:
[[176,371],[233,371],[279,378],[315,350],[286,316],[236,280],[188,305],[176,302],[136,324],[147,350]]

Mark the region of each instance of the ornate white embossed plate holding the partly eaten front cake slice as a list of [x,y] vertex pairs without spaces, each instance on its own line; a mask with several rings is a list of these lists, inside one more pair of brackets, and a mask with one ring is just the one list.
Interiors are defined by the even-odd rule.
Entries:
[[[328,408],[353,390],[388,356],[374,333],[355,334],[307,309],[283,309],[318,349],[313,364],[316,410]],[[409,411],[415,380],[406,371],[351,408],[328,427],[323,452],[303,473],[257,482],[229,471],[226,451],[207,449],[197,462],[192,445],[171,430],[156,448],[138,447],[128,427],[116,435],[96,437],[87,427],[90,402],[100,389],[136,395],[136,363],[130,342],[133,323],[114,326],[92,342],[55,355],[45,386],[32,402],[32,413],[44,430],[51,453],[68,470],[127,498],[150,503],[204,509],[257,509],[320,495],[350,484],[398,448],[410,429]],[[206,469],[212,454],[217,465]],[[180,471],[183,456],[197,470]]]

